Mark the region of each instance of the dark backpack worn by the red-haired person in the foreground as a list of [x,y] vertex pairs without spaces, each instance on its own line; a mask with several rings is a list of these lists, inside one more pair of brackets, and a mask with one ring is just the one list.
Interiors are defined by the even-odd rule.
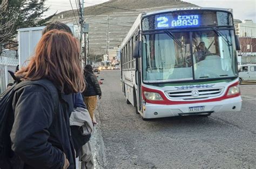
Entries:
[[46,89],[53,99],[54,111],[58,110],[59,96],[55,85],[50,80],[40,79],[35,81],[16,82],[10,89],[0,95],[0,168],[12,169],[21,164],[21,160],[11,150],[10,132],[14,124],[14,111],[12,110],[12,99],[18,89],[26,85],[41,85]]

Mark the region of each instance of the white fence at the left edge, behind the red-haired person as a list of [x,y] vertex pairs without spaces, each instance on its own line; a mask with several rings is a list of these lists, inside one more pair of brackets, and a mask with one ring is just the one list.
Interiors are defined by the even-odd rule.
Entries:
[[15,56],[0,56],[0,93],[6,90],[9,83],[14,82],[8,70],[15,72],[18,62],[19,60]]

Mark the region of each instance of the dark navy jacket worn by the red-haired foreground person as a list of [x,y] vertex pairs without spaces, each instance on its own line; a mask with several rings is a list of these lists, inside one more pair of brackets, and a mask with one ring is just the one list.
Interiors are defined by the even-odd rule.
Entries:
[[75,152],[70,136],[69,117],[72,94],[60,94],[58,112],[48,91],[26,85],[15,92],[12,107],[15,121],[11,131],[12,150],[24,162],[24,169],[62,168],[64,155],[75,169]]

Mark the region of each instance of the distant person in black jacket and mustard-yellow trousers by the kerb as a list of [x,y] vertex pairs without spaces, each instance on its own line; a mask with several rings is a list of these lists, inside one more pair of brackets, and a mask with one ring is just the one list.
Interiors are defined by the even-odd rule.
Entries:
[[99,99],[102,98],[102,91],[100,90],[99,82],[97,77],[93,74],[92,66],[87,64],[84,67],[84,76],[87,83],[86,90],[83,92],[84,103],[90,113],[92,123],[97,124],[94,119],[94,111],[97,105],[97,96]]

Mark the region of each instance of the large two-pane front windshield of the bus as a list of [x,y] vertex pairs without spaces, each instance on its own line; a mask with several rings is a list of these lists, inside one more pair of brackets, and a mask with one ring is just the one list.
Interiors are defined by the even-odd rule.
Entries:
[[165,31],[143,35],[142,41],[144,82],[238,76],[231,30]]

